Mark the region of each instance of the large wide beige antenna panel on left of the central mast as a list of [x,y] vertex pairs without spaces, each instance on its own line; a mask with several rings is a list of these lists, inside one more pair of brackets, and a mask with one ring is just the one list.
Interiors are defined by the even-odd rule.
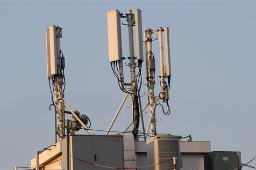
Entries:
[[109,62],[120,61],[122,58],[122,35],[120,24],[120,12],[108,11],[108,42]]

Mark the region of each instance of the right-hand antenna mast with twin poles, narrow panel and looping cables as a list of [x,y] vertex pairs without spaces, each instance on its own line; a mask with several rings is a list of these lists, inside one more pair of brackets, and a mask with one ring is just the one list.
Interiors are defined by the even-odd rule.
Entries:
[[[163,35],[165,32],[165,61],[163,58]],[[159,35],[159,54],[160,54],[160,86],[161,92],[155,97],[154,96],[154,87],[155,87],[155,57],[152,51],[152,34]],[[168,104],[169,100],[169,88],[170,88],[170,49],[169,49],[169,28],[159,27],[157,31],[153,31],[151,28],[148,28],[144,31],[144,42],[146,49],[146,79],[148,86],[148,101],[150,102],[150,120],[148,121],[148,127],[146,132],[148,133],[149,128],[151,128],[150,135],[154,137],[157,135],[156,129],[156,119],[155,119],[155,107],[162,104],[157,103],[158,100],[162,100],[167,104],[167,112],[163,110],[163,113],[166,115],[170,114],[170,108]],[[157,40],[157,39],[155,39]],[[166,82],[167,79],[167,82]],[[162,106],[163,109],[163,106]]]

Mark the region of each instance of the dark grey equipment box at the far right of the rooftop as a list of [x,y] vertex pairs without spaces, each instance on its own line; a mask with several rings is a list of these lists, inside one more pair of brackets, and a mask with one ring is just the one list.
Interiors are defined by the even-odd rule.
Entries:
[[212,151],[204,155],[205,170],[233,170],[238,167],[237,152]]

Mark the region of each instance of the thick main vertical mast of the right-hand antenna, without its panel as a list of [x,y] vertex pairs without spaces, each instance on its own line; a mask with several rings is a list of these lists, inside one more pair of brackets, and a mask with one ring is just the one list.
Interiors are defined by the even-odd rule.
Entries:
[[147,79],[148,79],[148,99],[150,101],[150,114],[152,114],[151,119],[151,136],[154,137],[157,135],[157,129],[155,128],[155,112],[154,112],[154,105],[155,105],[155,97],[154,97],[154,85],[155,85],[155,61],[154,56],[152,55],[152,29],[148,28],[145,31],[145,42],[146,42],[146,61],[147,61]]

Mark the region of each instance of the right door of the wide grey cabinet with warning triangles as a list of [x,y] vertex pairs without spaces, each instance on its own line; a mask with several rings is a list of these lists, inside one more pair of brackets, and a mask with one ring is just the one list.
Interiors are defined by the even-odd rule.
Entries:
[[[122,136],[93,136],[93,162],[94,164],[124,167],[124,146]],[[94,170],[106,170],[94,166]]]

